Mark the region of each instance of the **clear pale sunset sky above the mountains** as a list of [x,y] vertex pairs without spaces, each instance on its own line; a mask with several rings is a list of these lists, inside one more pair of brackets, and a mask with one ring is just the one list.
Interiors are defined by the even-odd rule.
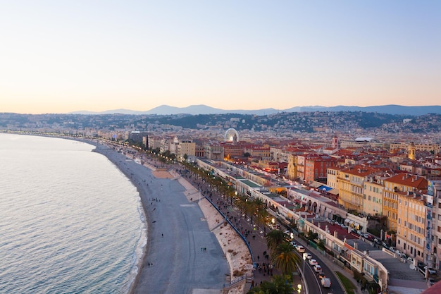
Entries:
[[0,112],[441,104],[441,1],[0,0]]

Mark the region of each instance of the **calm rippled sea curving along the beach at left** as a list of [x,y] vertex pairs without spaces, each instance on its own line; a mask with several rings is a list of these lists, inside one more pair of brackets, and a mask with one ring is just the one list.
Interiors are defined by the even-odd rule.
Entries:
[[139,192],[93,145],[0,134],[0,293],[128,293]]

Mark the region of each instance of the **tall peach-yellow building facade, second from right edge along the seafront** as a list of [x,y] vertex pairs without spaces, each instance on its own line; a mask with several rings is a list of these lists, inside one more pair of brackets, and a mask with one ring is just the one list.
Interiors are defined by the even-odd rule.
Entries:
[[426,204],[421,195],[398,193],[397,249],[421,262],[425,259]]

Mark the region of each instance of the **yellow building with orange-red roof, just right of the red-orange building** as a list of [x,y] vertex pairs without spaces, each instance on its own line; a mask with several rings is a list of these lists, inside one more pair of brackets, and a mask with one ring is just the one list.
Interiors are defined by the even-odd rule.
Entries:
[[380,173],[366,166],[352,166],[341,169],[338,176],[338,202],[347,210],[363,212],[364,180]]

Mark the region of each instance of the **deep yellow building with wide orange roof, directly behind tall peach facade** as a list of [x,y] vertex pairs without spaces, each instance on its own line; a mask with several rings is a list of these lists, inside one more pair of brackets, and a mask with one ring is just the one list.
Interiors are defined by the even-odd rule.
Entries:
[[387,216],[387,230],[397,231],[399,195],[420,190],[427,190],[427,180],[420,176],[399,173],[384,180],[383,215]]

